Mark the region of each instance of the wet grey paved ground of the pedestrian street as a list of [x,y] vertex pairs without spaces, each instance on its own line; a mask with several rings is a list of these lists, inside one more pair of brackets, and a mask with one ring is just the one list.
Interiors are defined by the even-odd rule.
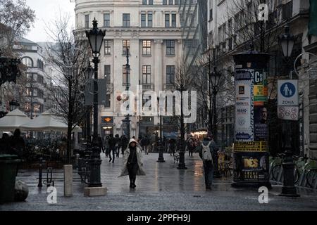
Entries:
[[[101,165],[101,182],[108,189],[106,196],[84,197],[77,170],[74,169],[74,195],[63,197],[63,171],[54,171],[57,188],[57,204],[49,205],[46,201],[46,186],[37,188],[38,172],[21,171],[17,179],[29,185],[30,194],[24,203],[0,205],[1,210],[132,210],[132,211],[200,211],[200,210],[317,210],[317,193],[299,189],[300,198],[280,197],[281,186],[273,186],[269,191],[269,203],[259,204],[256,189],[231,187],[231,178],[216,179],[212,191],[206,191],[202,162],[199,155],[194,158],[185,155],[188,169],[179,170],[173,157],[164,154],[166,162],[156,162],[159,155],[143,155],[144,171],[147,176],[137,176],[135,190],[130,190],[128,176],[118,178],[123,162],[122,155],[115,162],[108,162],[104,154]],[[43,174],[46,179],[46,173]]]

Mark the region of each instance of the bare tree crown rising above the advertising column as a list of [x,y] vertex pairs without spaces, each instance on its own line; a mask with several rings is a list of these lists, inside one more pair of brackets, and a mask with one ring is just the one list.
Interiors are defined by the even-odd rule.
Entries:
[[[268,6],[268,20],[259,18],[261,4]],[[228,20],[228,29],[225,29],[223,34],[234,36],[233,41],[238,49],[249,50],[251,43],[258,51],[270,52],[280,35],[280,30],[276,27],[280,17],[280,8],[277,6],[278,1],[275,0],[230,1],[227,13],[224,15]],[[233,20],[235,23],[232,22]]]

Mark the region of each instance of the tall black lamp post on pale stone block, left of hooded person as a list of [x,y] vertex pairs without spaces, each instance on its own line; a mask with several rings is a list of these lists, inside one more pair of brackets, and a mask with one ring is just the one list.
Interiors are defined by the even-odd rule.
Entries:
[[94,137],[92,143],[92,155],[89,160],[90,168],[90,182],[89,187],[101,187],[100,177],[100,151],[98,146],[98,63],[100,56],[100,49],[105,31],[99,30],[96,18],[92,21],[93,28],[89,32],[86,31],[86,36],[89,40],[90,47],[92,49],[92,56],[94,59]]

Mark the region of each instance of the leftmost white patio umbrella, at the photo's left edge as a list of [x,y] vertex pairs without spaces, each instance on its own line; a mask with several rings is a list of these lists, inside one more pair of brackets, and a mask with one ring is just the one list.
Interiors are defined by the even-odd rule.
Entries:
[[17,128],[20,128],[20,125],[30,121],[31,120],[29,117],[27,117],[27,115],[25,115],[19,109],[16,109],[0,119],[0,130],[14,131]]

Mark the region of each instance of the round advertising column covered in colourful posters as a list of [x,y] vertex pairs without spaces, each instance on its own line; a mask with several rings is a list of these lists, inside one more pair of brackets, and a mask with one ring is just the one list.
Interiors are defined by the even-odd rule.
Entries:
[[235,59],[235,146],[232,186],[267,186],[267,54],[249,51]]

